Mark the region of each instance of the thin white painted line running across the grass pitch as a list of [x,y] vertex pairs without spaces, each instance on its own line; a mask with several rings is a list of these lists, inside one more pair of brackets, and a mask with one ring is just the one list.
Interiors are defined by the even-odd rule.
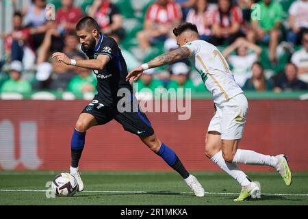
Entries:
[[[47,192],[47,190],[0,190],[0,192]],[[91,193],[131,193],[131,194],[151,194],[151,193],[160,193],[160,194],[192,194],[192,192],[164,192],[164,191],[84,191]],[[238,193],[233,192],[205,192],[205,194],[224,194],[224,195],[237,195]],[[308,196],[308,194],[275,194],[275,193],[261,193],[262,195],[268,196]]]

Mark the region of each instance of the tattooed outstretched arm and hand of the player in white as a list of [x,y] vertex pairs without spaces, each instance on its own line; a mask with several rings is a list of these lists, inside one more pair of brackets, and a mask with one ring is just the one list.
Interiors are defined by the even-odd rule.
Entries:
[[146,69],[155,68],[158,66],[164,66],[165,64],[170,64],[177,60],[183,60],[189,55],[190,55],[190,49],[188,49],[188,47],[180,47],[179,49],[175,49],[173,51],[164,53],[162,55],[155,57],[150,62],[142,64],[141,66],[138,66],[137,68],[131,70],[131,72],[128,73],[126,77],[126,80],[136,81],[139,77],[141,77],[143,71]]

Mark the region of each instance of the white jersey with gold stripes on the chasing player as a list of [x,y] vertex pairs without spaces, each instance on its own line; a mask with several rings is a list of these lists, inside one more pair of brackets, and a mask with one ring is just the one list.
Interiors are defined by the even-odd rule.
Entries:
[[200,73],[207,90],[213,94],[214,103],[229,101],[243,92],[217,47],[204,40],[194,40],[183,47],[190,49],[190,62]]

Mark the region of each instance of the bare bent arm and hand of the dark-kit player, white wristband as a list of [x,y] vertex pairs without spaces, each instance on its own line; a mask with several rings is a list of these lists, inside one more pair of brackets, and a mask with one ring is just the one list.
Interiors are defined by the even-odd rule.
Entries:
[[53,53],[52,58],[57,60],[57,62],[63,62],[67,65],[88,68],[91,70],[102,70],[110,61],[109,55],[99,55],[96,60],[70,60],[70,58],[64,53]]

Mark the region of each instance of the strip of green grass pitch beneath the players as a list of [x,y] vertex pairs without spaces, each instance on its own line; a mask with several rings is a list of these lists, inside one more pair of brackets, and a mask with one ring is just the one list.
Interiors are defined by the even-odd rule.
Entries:
[[240,185],[224,172],[192,172],[207,192],[201,198],[177,173],[149,171],[84,171],[84,192],[47,198],[45,184],[60,172],[0,171],[0,205],[308,205],[308,172],[294,172],[290,187],[277,172],[248,172],[261,198],[242,203],[233,202]]

